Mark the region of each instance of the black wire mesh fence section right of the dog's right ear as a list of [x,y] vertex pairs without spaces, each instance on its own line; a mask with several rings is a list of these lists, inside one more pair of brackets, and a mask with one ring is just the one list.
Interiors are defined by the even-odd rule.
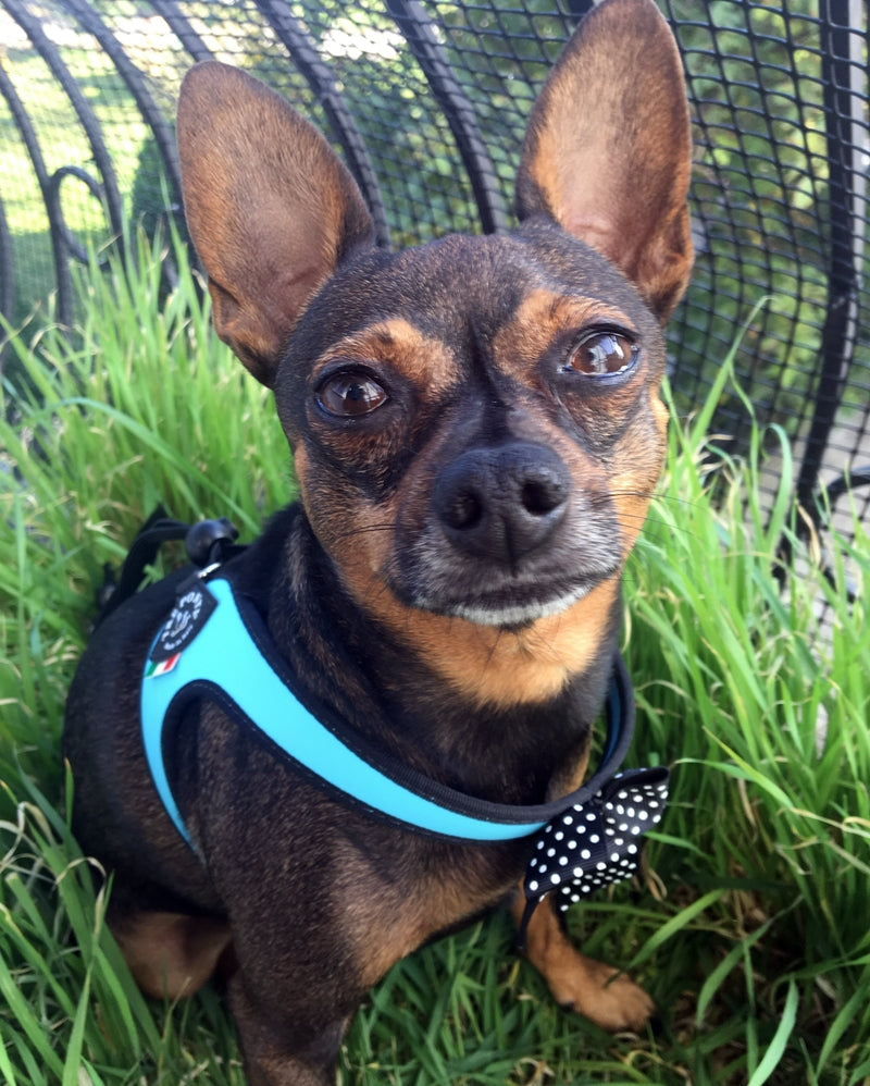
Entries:
[[[692,12],[693,7],[695,12]],[[868,166],[866,11],[673,2],[694,106],[697,264],[674,329],[679,386],[691,404],[754,306],[738,371],[762,423],[804,456],[809,502],[832,472],[870,460],[866,411]],[[719,423],[745,433],[736,397]],[[866,505],[865,505],[866,511]]]

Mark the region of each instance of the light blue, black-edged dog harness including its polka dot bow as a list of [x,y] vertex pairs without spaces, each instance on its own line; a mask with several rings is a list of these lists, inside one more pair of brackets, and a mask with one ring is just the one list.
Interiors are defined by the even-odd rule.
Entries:
[[[199,526],[197,526],[199,527]],[[212,552],[213,553],[213,552]],[[345,805],[402,829],[459,843],[530,838],[526,912],[554,892],[564,912],[593,890],[627,878],[641,835],[661,818],[663,767],[618,772],[634,730],[634,698],[617,656],[605,705],[607,738],[595,774],[569,795],[511,805],[467,795],[378,751],[308,691],[277,651],[252,602],[212,563],[185,580],[146,662],[141,735],[161,801],[196,851],[170,786],[167,741],[195,700],[216,703],[239,727]]]

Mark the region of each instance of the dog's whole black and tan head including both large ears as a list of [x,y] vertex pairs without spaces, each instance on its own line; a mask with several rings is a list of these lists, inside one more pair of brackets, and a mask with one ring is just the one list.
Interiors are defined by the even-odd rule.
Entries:
[[347,591],[478,701],[555,692],[612,626],[691,268],[685,91],[652,0],[605,0],[566,47],[504,236],[375,248],[322,135],[221,64],[186,77],[178,144],[215,325],[274,390]]

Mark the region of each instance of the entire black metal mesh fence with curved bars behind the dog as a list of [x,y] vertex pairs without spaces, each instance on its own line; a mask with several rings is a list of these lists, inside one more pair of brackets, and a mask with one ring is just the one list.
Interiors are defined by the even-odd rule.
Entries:
[[[524,119],[588,0],[3,0],[0,307],[22,320],[126,218],[178,202],[172,124],[196,60],[246,67],[341,148],[383,244],[512,219]],[[870,478],[868,27],[862,0],[661,0],[694,119],[696,270],[670,328],[680,405],[737,359],[798,496]],[[618,62],[618,59],[614,60]],[[728,394],[716,419],[747,412]],[[775,466],[773,468],[775,470]],[[870,488],[843,492],[870,521]]]

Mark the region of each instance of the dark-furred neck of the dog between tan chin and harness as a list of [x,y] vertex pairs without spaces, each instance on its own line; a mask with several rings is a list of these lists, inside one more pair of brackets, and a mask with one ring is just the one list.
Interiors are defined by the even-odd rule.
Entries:
[[546,701],[470,703],[353,605],[299,507],[282,513],[272,532],[285,536],[281,569],[262,578],[254,544],[246,588],[289,663],[318,677],[314,692],[349,724],[409,767],[482,799],[535,803],[554,788],[569,790],[572,782],[562,787],[555,774],[585,758],[611,671],[612,638],[594,667]]

